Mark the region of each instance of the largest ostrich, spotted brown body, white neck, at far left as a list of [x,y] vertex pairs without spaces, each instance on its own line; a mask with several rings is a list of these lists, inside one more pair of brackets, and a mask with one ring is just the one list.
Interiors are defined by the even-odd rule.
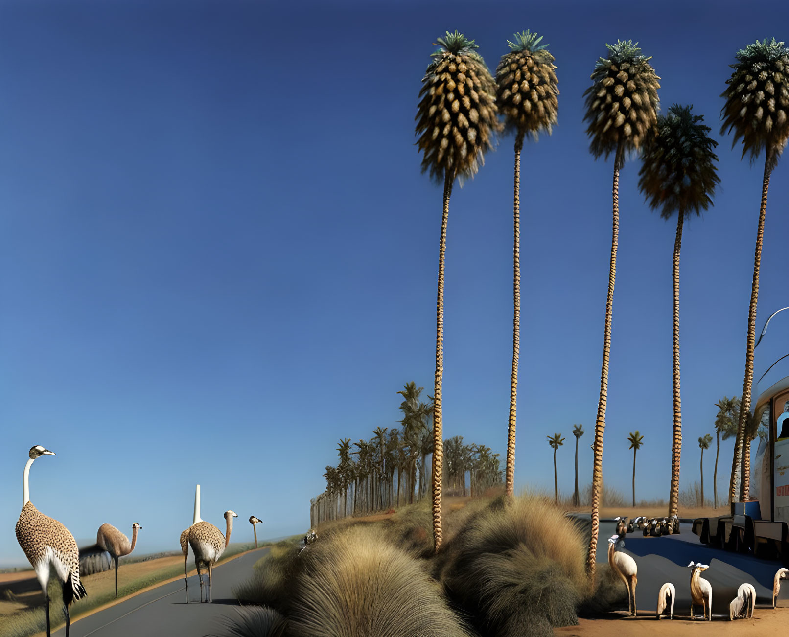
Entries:
[[41,445],[30,448],[30,460],[24,465],[22,476],[22,512],[17,520],[17,541],[36,571],[47,609],[47,637],[50,637],[49,593],[47,584],[50,567],[63,583],[63,613],[65,614],[65,637],[69,637],[69,605],[87,595],[80,582],[80,550],[69,530],[58,520],[45,516],[30,501],[29,475],[33,460],[40,456],[54,456]]

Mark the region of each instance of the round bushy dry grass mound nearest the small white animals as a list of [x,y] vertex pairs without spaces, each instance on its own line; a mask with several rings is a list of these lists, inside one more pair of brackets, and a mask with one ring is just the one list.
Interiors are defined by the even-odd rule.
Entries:
[[548,635],[578,624],[585,542],[562,510],[532,494],[471,512],[436,557],[456,605],[495,635]]

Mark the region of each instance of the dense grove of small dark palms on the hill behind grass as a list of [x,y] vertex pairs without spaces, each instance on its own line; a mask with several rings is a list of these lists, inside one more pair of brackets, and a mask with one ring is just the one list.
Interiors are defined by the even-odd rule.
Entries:
[[[339,441],[339,463],[328,466],[327,488],[310,501],[310,523],[368,514],[421,501],[428,490],[427,456],[433,451],[430,416],[432,397],[421,400],[424,388],[408,382],[398,393],[403,400],[401,427],[376,427],[368,441]],[[450,494],[476,496],[503,483],[498,453],[485,445],[465,445],[462,436],[443,441],[447,460],[445,487]],[[468,482],[466,479],[468,475]],[[468,488],[467,485],[468,484]]]

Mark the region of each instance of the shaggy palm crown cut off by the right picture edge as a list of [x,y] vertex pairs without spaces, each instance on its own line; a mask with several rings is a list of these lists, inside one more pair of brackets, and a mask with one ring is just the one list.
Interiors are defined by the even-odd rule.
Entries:
[[751,161],[767,151],[772,169],[789,139],[789,49],[765,38],[735,57],[728,88],[720,95],[726,99],[720,132],[734,131],[731,147],[742,140],[742,157],[750,154]]

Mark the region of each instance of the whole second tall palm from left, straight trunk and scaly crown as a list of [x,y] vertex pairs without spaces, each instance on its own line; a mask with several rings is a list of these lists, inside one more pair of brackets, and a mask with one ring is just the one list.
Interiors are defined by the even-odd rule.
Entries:
[[513,248],[513,305],[512,372],[510,374],[510,419],[507,427],[507,495],[514,494],[515,480],[515,416],[518,402],[518,355],[521,330],[521,150],[523,138],[537,140],[540,132],[551,134],[557,121],[559,102],[558,81],[553,65],[554,57],[548,53],[547,44],[540,44],[542,37],[528,31],[516,33],[515,42],[507,40],[510,53],[499,61],[495,71],[496,102],[504,116],[507,130],[515,133],[514,178],[514,248]]

